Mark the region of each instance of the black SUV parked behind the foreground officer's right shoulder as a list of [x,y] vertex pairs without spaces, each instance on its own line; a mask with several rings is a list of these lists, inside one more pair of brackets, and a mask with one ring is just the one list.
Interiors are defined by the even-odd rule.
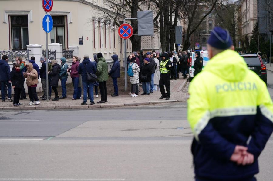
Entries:
[[257,54],[246,54],[241,56],[247,63],[248,69],[254,71],[267,85],[267,71],[265,66],[267,62],[263,62],[261,56]]

